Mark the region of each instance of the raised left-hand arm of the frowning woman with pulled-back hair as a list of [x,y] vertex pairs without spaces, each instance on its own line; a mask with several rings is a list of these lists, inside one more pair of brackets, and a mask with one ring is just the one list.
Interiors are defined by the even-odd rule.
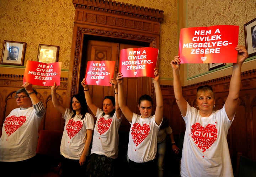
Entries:
[[117,73],[117,83],[118,83],[118,104],[123,112],[124,116],[129,122],[132,122],[132,111],[126,106],[124,101],[124,94],[123,94],[123,77],[122,73]]

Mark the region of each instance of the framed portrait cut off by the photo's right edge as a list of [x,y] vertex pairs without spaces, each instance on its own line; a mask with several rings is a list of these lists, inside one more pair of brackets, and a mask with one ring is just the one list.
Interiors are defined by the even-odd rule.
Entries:
[[244,24],[245,47],[249,57],[256,55],[256,18]]

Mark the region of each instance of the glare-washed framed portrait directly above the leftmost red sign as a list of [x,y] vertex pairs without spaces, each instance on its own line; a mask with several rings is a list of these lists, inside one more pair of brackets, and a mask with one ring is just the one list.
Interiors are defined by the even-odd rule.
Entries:
[[39,44],[37,61],[42,63],[58,62],[59,46]]

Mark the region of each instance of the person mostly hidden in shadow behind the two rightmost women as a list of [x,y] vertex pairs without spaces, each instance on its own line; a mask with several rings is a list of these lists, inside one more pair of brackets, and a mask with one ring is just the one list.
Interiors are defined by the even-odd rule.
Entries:
[[174,141],[174,135],[172,133],[172,129],[169,126],[169,121],[167,118],[163,118],[162,124],[160,126],[160,130],[157,136],[158,140],[158,177],[164,176],[164,157],[166,150],[166,135],[170,136],[172,150],[175,154],[179,153],[180,148],[176,146]]

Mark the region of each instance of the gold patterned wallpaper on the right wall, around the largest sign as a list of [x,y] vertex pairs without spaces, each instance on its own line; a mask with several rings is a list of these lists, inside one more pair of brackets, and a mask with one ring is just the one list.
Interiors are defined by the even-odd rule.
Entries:
[[[245,45],[244,24],[256,18],[255,0],[187,0],[187,27],[238,25]],[[188,64],[188,77],[208,71],[208,64]]]

